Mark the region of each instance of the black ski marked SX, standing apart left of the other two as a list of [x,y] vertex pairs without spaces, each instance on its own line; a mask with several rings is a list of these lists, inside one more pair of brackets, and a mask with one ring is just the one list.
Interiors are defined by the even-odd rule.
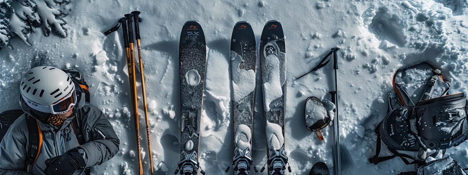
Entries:
[[[181,159],[174,174],[197,175],[200,168],[198,143],[205,67],[206,43],[202,27],[197,21],[187,21],[179,42]],[[205,175],[203,170],[200,173]]]

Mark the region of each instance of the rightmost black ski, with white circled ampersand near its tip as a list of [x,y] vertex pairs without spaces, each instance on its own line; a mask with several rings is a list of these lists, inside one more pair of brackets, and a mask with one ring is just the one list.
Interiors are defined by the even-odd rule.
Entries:
[[[285,36],[281,23],[268,21],[260,40],[263,102],[268,150],[268,172],[284,175],[288,157],[285,151]],[[261,172],[263,172],[264,167]],[[288,166],[291,172],[291,167]]]

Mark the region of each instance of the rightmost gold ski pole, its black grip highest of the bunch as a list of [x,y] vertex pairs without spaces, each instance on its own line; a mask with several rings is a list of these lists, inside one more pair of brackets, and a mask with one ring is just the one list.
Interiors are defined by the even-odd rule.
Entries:
[[135,39],[137,40],[138,48],[138,61],[140,63],[140,76],[141,76],[141,90],[143,91],[143,109],[145,110],[145,119],[146,119],[146,139],[148,140],[148,153],[149,153],[149,164],[151,166],[151,175],[154,174],[153,171],[153,156],[151,153],[151,139],[149,133],[149,122],[148,122],[148,108],[146,105],[146,90],[145,90],[145,76],[143,73],[143,61],[141,59],[141,46],[140,46],[140,26],[141,18],[138,18],[140,14],[139,11],[133,11],[133,21],[135,21]]

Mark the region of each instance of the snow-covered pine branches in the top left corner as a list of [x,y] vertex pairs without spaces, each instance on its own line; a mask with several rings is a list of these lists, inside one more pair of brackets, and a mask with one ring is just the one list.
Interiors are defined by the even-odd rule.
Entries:
[[66,37],[66,21],[61,19],[70,10],[69,0],[0,0],[0,49],[7,46],[13,49],[11,38],[18,36],[28,46],[29,35],[34,28],[44,28],[49,36],[52,29]]

